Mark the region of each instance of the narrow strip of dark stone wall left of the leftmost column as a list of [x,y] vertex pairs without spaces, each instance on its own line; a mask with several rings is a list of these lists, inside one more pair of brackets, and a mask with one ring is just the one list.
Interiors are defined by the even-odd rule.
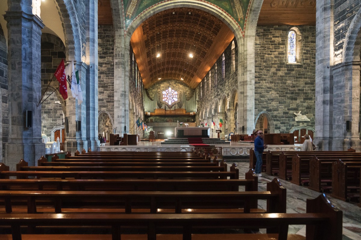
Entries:
[[[9,107],[8,107],[8,47],[4,36],[3,29],[0,26],[0,88],[1,88],[1,123],[3,128],[0,129],[2,136],[2,149],[8,141],[9,136]],[[3,152],[0,153],[3,155]],[[2,159],[2,158],[0,158]]]

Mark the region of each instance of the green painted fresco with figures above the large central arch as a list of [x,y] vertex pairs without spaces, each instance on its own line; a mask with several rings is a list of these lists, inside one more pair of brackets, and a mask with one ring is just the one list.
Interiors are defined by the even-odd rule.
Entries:
[[[157,1],[157,0],[123,0],[123,8],[125,13],[126,28],[129,27],[130,23],[143,12],[152,8],[160,3],[167,2],[169,0]],[[209,0],[202,1],[204,3],[211,4],[216,8],[222,10],[225,14],[229,15],[238,25],[243,32],[247,8],[250,0]]]

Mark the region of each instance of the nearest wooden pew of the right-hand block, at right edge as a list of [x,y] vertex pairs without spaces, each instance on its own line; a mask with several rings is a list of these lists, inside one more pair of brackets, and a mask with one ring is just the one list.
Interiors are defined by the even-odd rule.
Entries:
[[[341,159],[332,162],[331,196],[343,201],[355,197],[349,190],[360,190],[360,168],[361,162],[343,162]],[[360,191],[356,194],[356,197],[360,198]]]

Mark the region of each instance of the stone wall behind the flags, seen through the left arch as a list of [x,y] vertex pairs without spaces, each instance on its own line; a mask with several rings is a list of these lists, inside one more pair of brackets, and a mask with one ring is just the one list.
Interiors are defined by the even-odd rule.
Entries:
[[[53,78],[53,76],[61,60],[64,59],[65,61],[65,46],[58,37],[44,33],[42,35],[41,50],[42,86],[47,86],[49,81],[52,80],[51,86],[57,87],[58,81],[55,77]],[[53,92],[53,89],[48,89],[42,101],[46,99],[51,92]],[[42,103],[42,132],[48,137],[51,137],[53,127],[64,124],[61,105],[56,103],[56,101],[59,102],[59,100],[56,92],[54,92]]]

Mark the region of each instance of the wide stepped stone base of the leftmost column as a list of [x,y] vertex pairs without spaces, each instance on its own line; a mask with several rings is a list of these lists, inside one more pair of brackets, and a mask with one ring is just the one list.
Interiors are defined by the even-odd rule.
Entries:
[[38,159],[45,155],[45,144],[6,144],[4,164],[10,171],[16,171],[16,164],[24,159],[29,166],[37,166]]

